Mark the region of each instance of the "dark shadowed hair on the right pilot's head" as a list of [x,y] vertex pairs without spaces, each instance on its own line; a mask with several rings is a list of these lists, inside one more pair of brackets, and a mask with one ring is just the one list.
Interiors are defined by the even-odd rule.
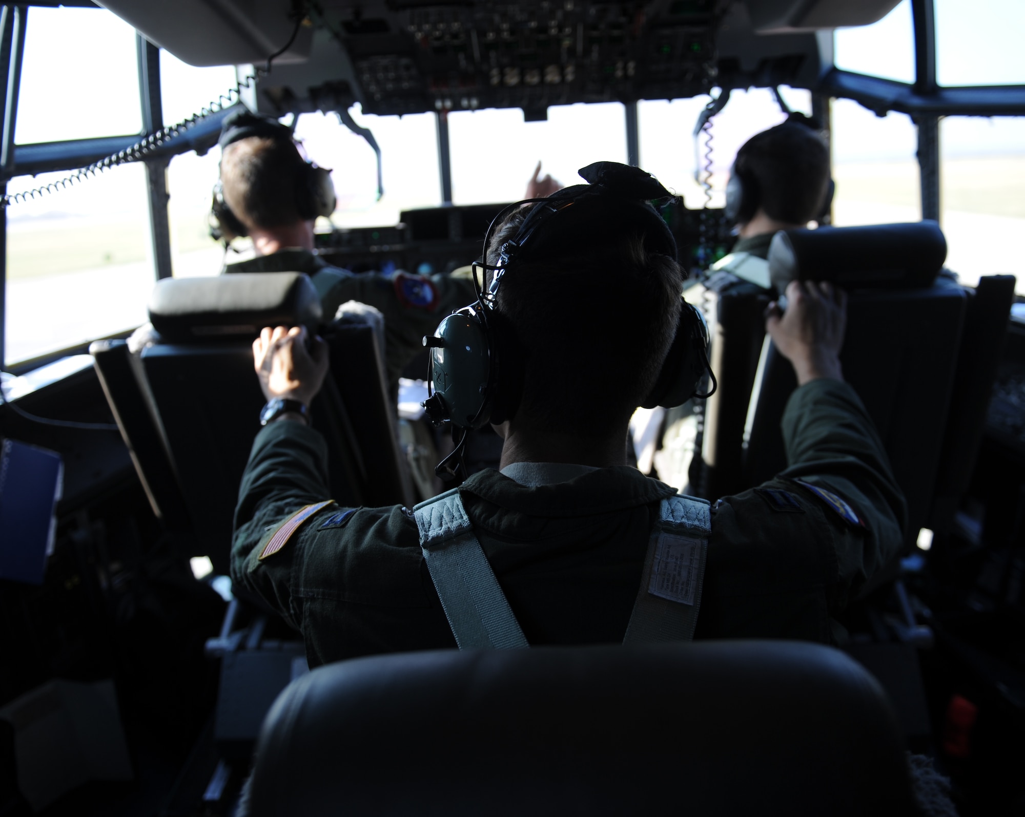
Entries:
[[744,143],[737,152],[735,172],[743,184],[753,181],[754,199],[770,218],[806,224],[819,215],[825,201],[829,150],[815,132],[814,120],[791,115]]

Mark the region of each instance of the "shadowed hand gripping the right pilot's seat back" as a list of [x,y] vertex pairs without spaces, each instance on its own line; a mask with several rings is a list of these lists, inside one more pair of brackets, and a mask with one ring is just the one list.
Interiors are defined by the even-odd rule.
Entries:
[[766,332],[804,386],[819,378],[843,380],[839,350],[847,331],[847,293],[826,282],[791,281],[786,312],[773,301],[766,309]]

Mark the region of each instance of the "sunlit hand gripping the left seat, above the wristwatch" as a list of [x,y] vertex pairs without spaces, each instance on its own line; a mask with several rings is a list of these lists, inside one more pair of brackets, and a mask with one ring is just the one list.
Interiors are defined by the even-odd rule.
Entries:
[[253,341],[253,365],[268,400],[310,405],[327,375],[327,344],[315,337],[308,350],[305,327],[264,327]]

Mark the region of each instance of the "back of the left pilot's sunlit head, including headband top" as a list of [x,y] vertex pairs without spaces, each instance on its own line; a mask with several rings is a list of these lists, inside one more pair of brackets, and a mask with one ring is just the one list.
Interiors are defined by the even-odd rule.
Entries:
[[224,203],[247,229],[302,221],[296,206],[304,161],[284,125],[248,112],[225,120],[220,144]]

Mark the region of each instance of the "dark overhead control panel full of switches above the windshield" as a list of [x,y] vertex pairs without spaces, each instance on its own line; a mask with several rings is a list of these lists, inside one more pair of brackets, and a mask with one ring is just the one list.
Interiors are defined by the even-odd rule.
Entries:
[[522,107],[543,118],[548,105],[637,98],[642,89],[700,93],[714,69],[716,0],[414,2],[342,24],[366,111]]

